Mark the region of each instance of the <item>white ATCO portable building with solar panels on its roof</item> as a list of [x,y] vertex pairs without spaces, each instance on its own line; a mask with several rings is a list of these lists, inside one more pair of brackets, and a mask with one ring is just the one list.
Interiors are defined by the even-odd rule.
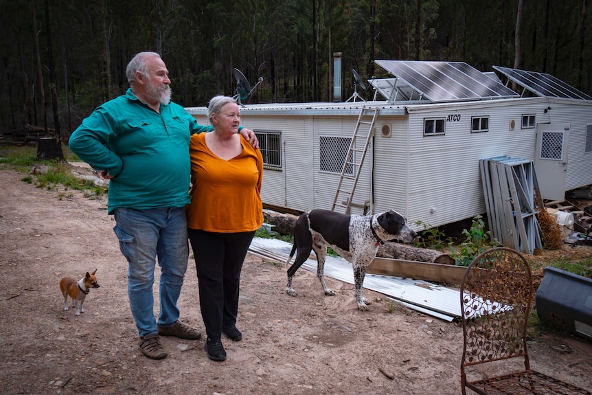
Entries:
[[[479,161],[502,156],[534,162],[543,199],[592,184],[589,95],[530,71],[494,67],[506,86],[466,63],[376,63],[393,78],[369,80],[372,101],[241,104],[266,207],[393,209],[416,229],[446,225],[486,212]],[[187,111],[207,124],[205,107]]]

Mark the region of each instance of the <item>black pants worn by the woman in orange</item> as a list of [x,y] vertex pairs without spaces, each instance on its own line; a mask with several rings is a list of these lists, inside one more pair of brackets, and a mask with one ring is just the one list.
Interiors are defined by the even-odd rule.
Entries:
[[222,326],[236,324],[240,271],[254,235],[189,229],[201,317],[209,339],[220,339]]

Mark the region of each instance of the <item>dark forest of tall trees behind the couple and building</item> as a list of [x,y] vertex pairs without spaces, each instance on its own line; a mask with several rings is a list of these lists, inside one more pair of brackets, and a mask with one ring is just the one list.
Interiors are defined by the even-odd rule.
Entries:
[[342,98],[351,69],[387,77],[375,59],[462,61],[549,73],[592,94],[588,0],[0,0],[0,128],[55,128],[67,139],[102,102],[126,91],[134,54],[155,51],[173,100],[203,106],[333,101],[333,54]]

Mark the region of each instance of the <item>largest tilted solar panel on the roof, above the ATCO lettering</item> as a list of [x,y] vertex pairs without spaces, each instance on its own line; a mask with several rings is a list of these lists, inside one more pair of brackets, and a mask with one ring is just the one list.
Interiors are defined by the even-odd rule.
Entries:
[[463,62],[375,60],[433,102],[515,98],[518,93]]

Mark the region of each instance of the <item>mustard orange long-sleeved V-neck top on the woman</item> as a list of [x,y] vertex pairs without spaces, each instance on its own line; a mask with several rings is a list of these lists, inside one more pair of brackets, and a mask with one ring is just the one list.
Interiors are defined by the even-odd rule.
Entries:
[[242,136],[242,153],[225,160],[205,144],[206,133],[192,135],[191,203],[187,227],[207,232],[251,232],[263,223],[260,191],[263,157]]

